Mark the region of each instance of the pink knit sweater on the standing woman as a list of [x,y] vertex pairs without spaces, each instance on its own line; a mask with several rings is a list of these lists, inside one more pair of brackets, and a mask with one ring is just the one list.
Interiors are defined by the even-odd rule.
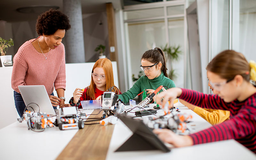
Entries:
[[66,89],[65,48],[60,44],[50,50],[47,59],[37,52],[31,39],[22,44],[13,57],[12,89],[18,93],[19,85],[44,85],[48,95],[53,89]]

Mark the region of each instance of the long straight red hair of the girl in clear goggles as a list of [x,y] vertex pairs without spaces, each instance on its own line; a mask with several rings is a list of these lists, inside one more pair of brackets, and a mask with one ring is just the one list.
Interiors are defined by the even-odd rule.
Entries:
[[[107,91],[109,88],[113,87],[114,84],[114,75],[113,75],[113,68],[112,68],[112,63],[108,58],[101,58],[99,60],[97,60],[92,68],[92,73],[93,70],[97,67],[101,67],[103,68],[104,72],[105,72],[105,76],[106,76],[106,88],[105,91]],[[86,91],[86,94],[88,96],[90,96],[93,100],[96,99],[95,97],[95,87],[96,85],[94,84],[92,75],[91,75],[91,84],[88,86],[88,89]],[[119,89],[118,88],[114,88],[113,89],[115,93],[119,93]]]

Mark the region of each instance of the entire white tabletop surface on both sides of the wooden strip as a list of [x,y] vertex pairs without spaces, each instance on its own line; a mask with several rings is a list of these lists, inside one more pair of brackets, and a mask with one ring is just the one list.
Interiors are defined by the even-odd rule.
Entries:
[[[178,104],[180,105],[180,104]],[[192,114],[195,132],[211,126],[202,117],[188,109],[179,107],[180,113]],[[92,111],[87,110],[90,114]],[[158,110],[161,114],[161,110]],[[0,130],[0,159],[55,159],[66,147],[78,130],[60,131],[58,127],[47,128],[44,132],[28,130],[25,121],[15,122]],[[171,152],[162,151],[129,151],[114,152],[132,132],[118,120],[108,148],[106,159],[256,159],[254,153],[236,142],[225,140],[183,148],[172,148]],[[100,152],[100,151],[99,151]]]

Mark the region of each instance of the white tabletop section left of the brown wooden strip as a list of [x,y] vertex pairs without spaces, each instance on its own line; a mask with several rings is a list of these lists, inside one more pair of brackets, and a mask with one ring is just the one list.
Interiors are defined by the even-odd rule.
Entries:
[[[91,114],[92,111],[86,110],[85,113]],[[33,132],[28,130],[26,121],[15,122],[0,130],[0,159],[55,159],[77,131],[61,131],[54,126],[43,132]]]

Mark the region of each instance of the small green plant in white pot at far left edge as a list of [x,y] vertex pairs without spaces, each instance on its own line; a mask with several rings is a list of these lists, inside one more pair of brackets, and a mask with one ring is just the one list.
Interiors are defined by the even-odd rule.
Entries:
[[5,55],[8,47],[13,46],[13,40],[10,38],[9,40],[5,40],[0,37],[0,59],[2,63],[2,67],[11,66],[12,65],[12,55]]

